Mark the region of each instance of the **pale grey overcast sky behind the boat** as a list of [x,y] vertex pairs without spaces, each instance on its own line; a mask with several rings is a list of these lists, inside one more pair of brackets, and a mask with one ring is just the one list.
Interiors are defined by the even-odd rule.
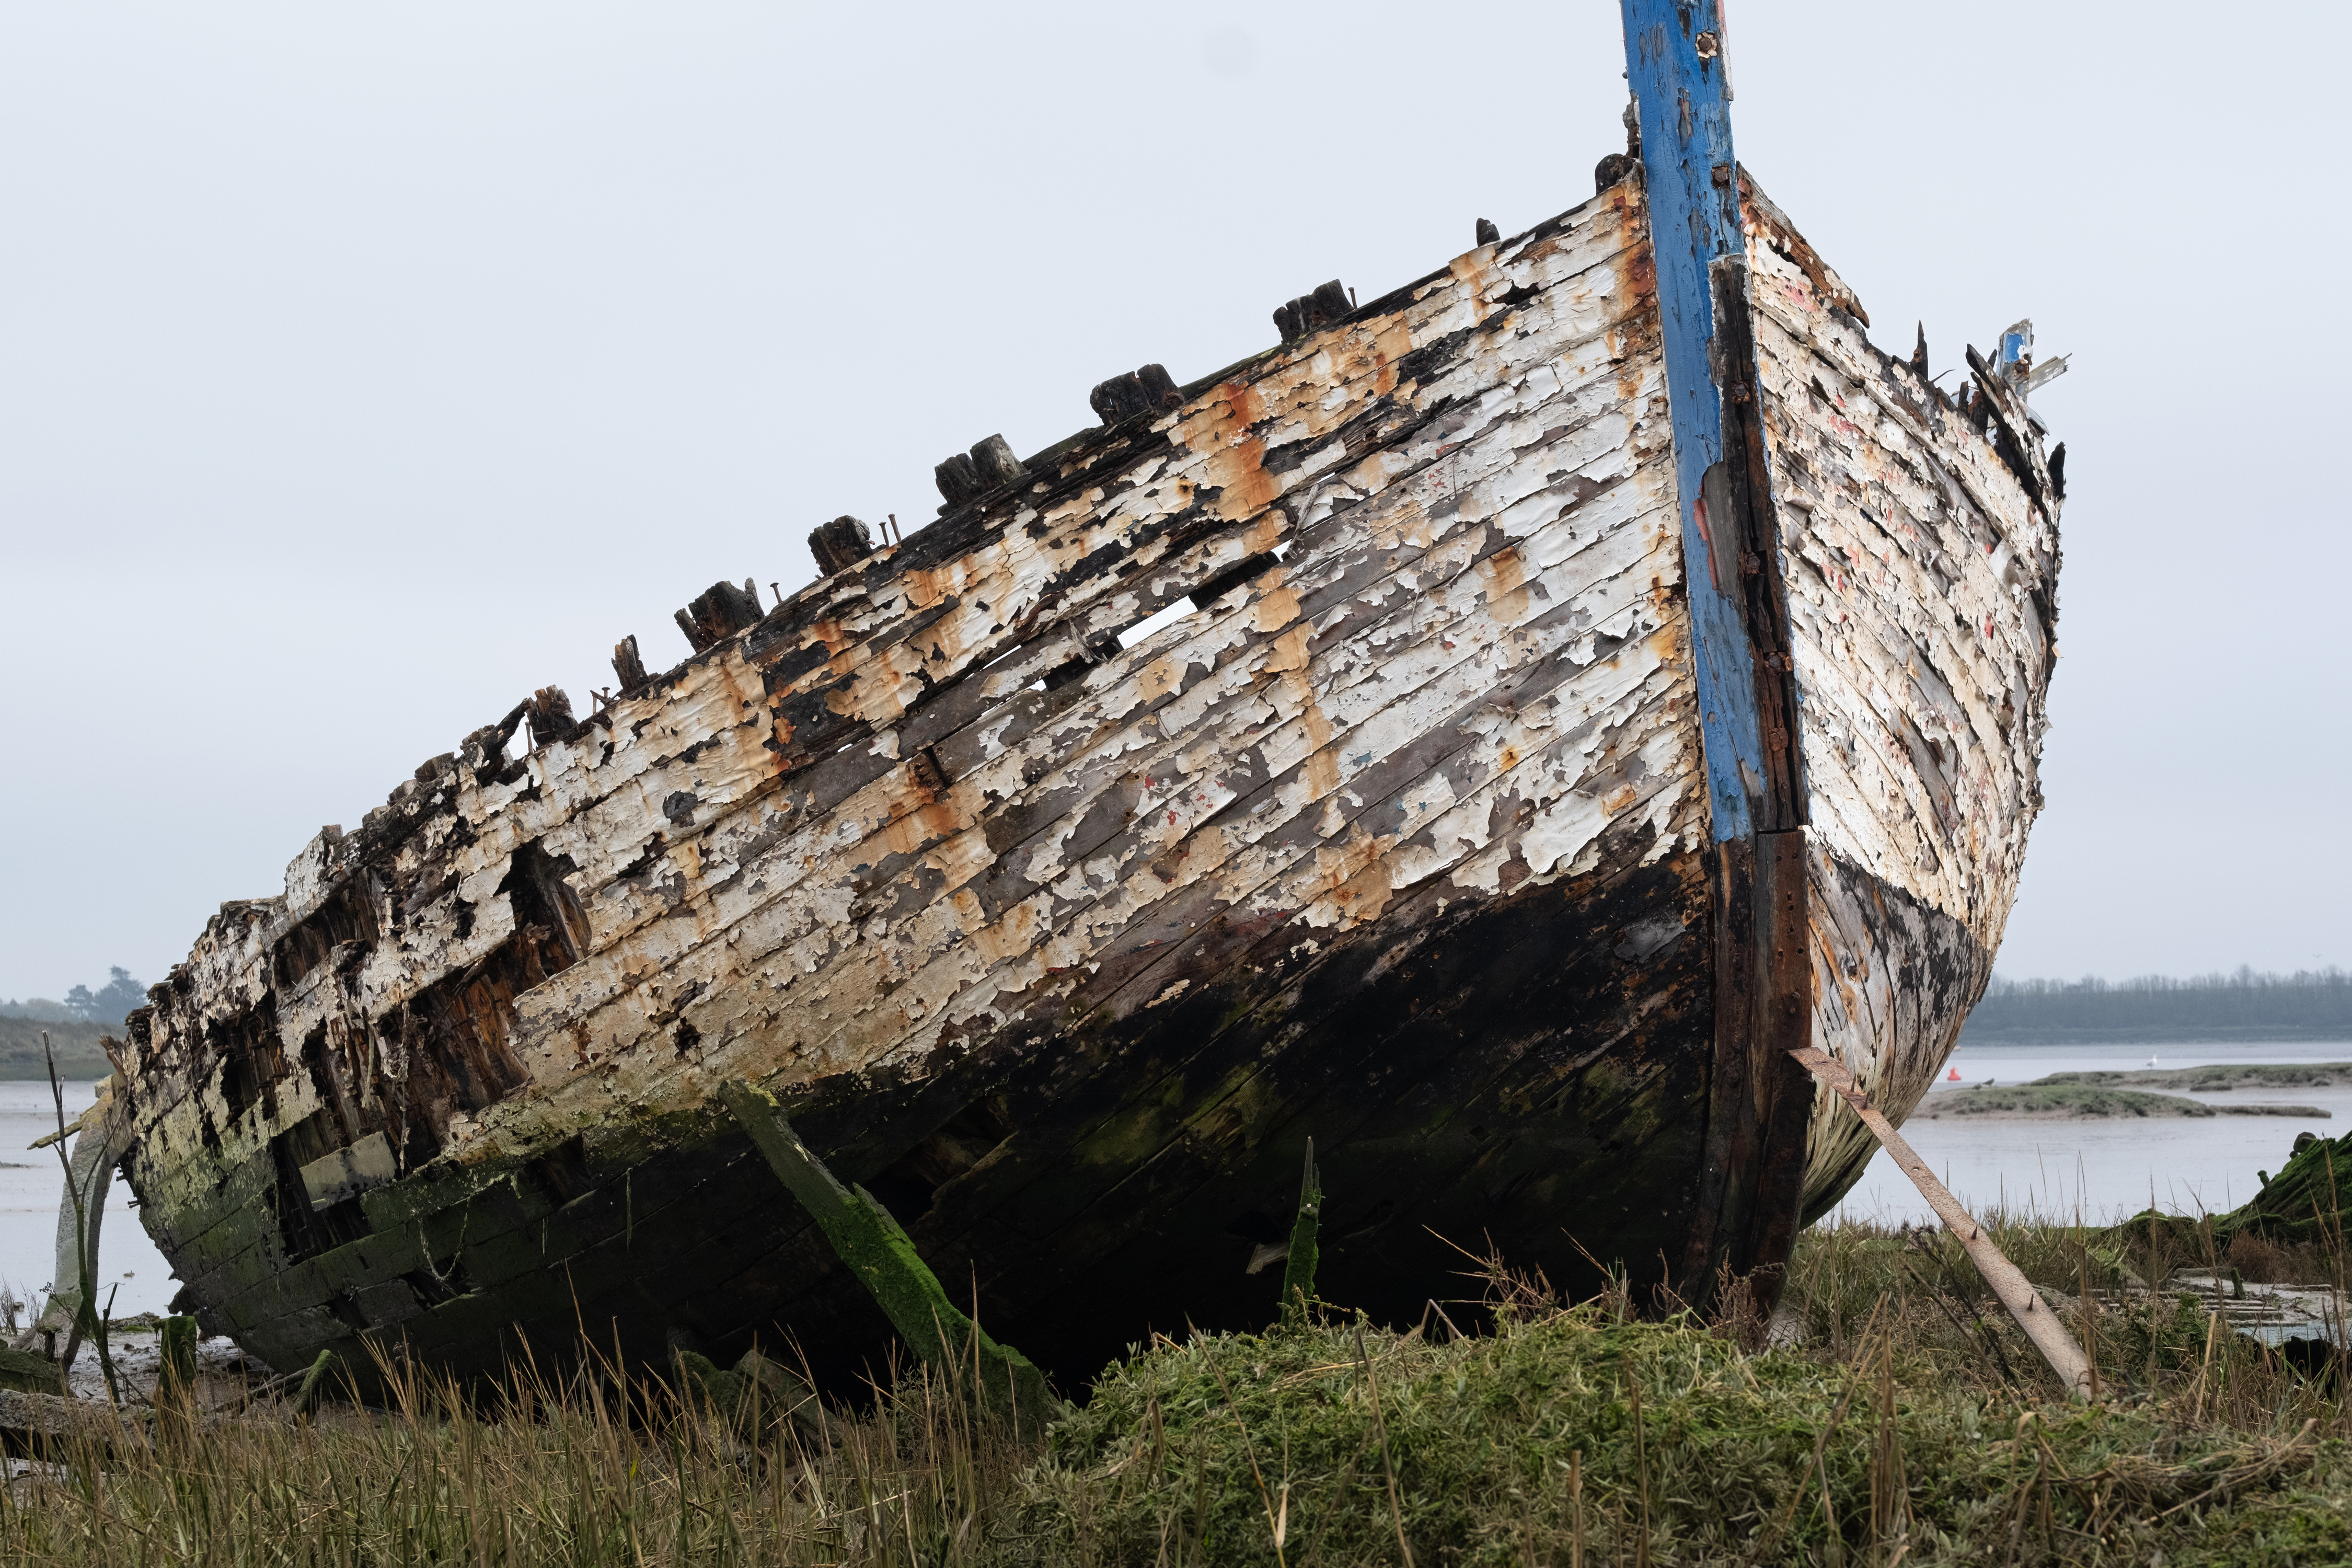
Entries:
[[[148,980],[713,578],[1592,193],[1613,0],[0,7],[0,994]],[[1736,0],[1740,160],[1877,339],[2074,369],[2002,971],[2352,961],[2352,9]],[[764,597],[764,595],[762,595]]]

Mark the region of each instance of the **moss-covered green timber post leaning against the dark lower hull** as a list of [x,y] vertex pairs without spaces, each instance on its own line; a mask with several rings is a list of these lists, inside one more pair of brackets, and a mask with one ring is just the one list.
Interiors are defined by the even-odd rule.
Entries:
[[915,1251],[898,1220],[863,1187],[842,1187],[833,1171],[809,1152],[783,1107],[764,1088],[722,1084],[720,1100],[743,1124],[767,1157],[776,1178],[800,1199],[809,1218],[826,1232],[835,1255],[866,1281],[875,1302],[889,1316],[915,1354],[948,1373],[960,1385],[974,1368],[990,1403],[1009,1399],[1014,1420],[1028,1418],[1044,1429],[1063,1406],[1044,1385],[1044,1373],[1009,1345],[997,1345],[948,1300],[931,1265]]

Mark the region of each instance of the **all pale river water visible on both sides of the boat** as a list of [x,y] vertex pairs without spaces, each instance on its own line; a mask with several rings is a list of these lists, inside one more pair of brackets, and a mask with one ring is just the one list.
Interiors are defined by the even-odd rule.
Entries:
[[[2209,1063],[2343,1063],[2352,1041],[2333,1044],[2220,1044],[2220,1046],[1962,1046],[1952,1067],[1962,1081],[1938,1084],[1950,1093],[1985,1079],[2023,1084],[2049,1072],[2098,1072],[2147,1067],[2204,1067]],[[89,1084],[66,1086],[66,1114],[92,1100]],[[2173,1091],[2164,1091],[2173,1093]],[[2227,1100],[2274,1100],[2312,1105],[2331,1117],[2178,1117],[2112,1121],[1994,1121],[1915,1119],[1903,1135],[1943,1175],[1945,1185],[1976,1211],[2037,1208],[2051,1218],[2114,1220],[2154,1204],[2173,1213],[2225,1213],[2260,1187],[2258,1171],[2277,1171],[2293,1150],[2296,1133],[2336,1138],[2352,1131],[2352,1086],[2293,1091],[2232,1091],[2190,1095],[2216,1105]],[[26,1150],[56,1126],[47,1084],[0,1081],[0,1288],[16,1300],[40,1300],[56,1253],[56,1201],[64,1173],[52,1150]],[[1917,1187],[1879,1152],[1835,1211],[1839,1218],[1884,1222],[1931,1222]],[[115,1182],[106,1197],[99,1276],[115,1291],[115,1314],[162,1312],[179,1288],[162,1253],[148,1241],[132,1194]]]

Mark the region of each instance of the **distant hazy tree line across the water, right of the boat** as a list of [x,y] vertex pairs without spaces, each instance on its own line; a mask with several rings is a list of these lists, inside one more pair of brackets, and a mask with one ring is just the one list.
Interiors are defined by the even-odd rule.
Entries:
[[2133,980],[1992,978],[1969,1013],[1971,1044],[2093,1039],[2345,1039],[2352,1041],[2352,973],[2328,966],[2291,976],[2253,969]]

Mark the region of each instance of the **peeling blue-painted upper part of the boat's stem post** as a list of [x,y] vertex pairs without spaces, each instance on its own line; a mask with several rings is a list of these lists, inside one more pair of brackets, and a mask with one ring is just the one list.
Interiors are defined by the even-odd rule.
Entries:
[[[1700,736],[1715,842],[1748,837],[1764,785],[1755,656],[1738,604],[1738,562],[1715,562],[1698,527],[1708,468],[1724,458],[1724,404],[1715,386],[1715,299],[1708,263],[1743,256],[1731,92],[1717,0],[1623,0],[1625,80],[1642,125],[1649,237],[1658,261],[1665,393],[1682,494],[1682,562],[1698,658]],[[1726,183],[1715,183],[1715,169]]]

